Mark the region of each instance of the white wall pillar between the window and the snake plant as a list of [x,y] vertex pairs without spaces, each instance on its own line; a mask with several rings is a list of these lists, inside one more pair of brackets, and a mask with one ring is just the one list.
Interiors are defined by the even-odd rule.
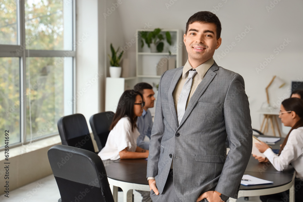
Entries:
[[[105,1],[76,1],[76,112],[89,118],[104,108]],[[87,36],[81,40],[82,36]]]

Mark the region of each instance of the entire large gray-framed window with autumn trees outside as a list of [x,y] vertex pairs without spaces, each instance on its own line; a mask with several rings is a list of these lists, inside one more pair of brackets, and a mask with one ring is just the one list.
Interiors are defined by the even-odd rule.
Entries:
[[58,134],[74,111],[75,2],[2,0],[0,12],[0,140],[5,130],[11,146]]

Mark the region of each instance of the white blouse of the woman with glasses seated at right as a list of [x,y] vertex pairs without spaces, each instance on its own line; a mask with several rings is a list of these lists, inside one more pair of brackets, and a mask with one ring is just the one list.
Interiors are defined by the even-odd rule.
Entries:
[[291,164],[297,172],[296,177],[303,179],[303,127],[291,131],[280,156],[271,148],[268,148],[264,155],[277,171],[283,171]]

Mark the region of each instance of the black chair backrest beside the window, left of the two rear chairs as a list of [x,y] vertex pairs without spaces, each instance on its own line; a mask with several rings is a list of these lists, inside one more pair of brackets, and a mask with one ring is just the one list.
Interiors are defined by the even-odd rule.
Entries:
[[72,114],[60,118],[58,131],[63,145],[95,152],[85,117],[82,114]]

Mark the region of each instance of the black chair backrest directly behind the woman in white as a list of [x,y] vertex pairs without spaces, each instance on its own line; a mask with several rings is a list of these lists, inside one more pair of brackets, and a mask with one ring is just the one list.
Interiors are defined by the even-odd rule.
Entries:
[[110,132],[109,127],[112,124],[114,118],[114,112],[105,111],[98,114],[94,114],[89,119],[89,123],[94,134],[95,141],[97,142],[98,149],[101,151],[105,147],[108,134]]

